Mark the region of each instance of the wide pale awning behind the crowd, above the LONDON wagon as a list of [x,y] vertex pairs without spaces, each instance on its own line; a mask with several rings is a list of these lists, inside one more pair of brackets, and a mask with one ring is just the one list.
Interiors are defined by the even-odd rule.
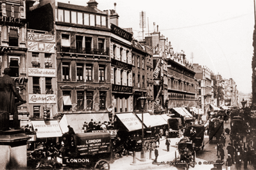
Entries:
[[86,121],[87,123],[90,120],[99,121],[103,123],[104,121],[109,121],[108,113],[88,113],[88,114],[64,114],[62,120],[60,120],[60,127],[62,128],[62,132],[68,132],[69,128],[67,125],[70,125],[76,134],[83,133],[82,127],[83,123]]

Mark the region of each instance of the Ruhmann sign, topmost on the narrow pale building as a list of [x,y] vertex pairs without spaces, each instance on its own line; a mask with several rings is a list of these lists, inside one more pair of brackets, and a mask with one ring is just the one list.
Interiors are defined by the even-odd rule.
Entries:
[[28,33],[28,42],[55,42],[55,35]]

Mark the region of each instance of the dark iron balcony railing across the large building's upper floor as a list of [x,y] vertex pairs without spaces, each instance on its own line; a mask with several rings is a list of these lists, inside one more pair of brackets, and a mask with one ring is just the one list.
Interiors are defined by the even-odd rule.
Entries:
[[96,54],[108,56],[109,49],[90,49],[90,48],[77,48],[77,47],[66,47],[61,46],[60,52],[71,52],[78,54]]

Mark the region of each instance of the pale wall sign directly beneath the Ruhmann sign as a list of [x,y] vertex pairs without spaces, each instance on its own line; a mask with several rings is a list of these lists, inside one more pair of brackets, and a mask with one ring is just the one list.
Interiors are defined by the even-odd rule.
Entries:
[[28,42],[28,51],[55,53],[55,43]]

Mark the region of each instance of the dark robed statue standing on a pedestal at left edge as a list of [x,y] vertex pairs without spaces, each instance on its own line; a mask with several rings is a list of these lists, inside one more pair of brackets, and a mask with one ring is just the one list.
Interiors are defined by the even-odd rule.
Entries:
[[[26,103],[26,100],[21,98],[19,91],[16,88],[15,81],[10,77],[11,69],[4,69],[4,76],[0,77],[0,111],[3,113],[8,112],[13,114],[14,129],[19,129],[19,119],[17,105]],[[15,97],[20,101],[19,104],[15,104]],[[3,116],[1,116],[3,119]],[[9,118],[8,118],[9,120]],[[3,122],[4,120],[0,120]],[[9,127],[2,127],[3,129]]]

